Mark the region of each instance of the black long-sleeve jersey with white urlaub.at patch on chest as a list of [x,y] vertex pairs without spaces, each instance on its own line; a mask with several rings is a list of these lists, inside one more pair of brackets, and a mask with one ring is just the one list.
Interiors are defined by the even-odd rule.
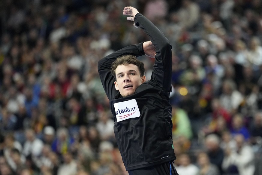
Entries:
[[98,63],[98,72],[110,100],[114,132],[126,170],[153,166],[176,159],[173,150],[171,105],[171,48],[164,34],[146,17],[134,18],[156,48],[151,79],[137,87],[134,94],[122,97],[116,91],[110,72],[116,58],[144,55],[143,43],[122,48]]

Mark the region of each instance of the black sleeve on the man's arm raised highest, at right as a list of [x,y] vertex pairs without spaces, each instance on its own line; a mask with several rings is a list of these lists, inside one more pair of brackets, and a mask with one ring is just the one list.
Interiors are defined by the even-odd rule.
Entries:
[[172,46],[163,32],[158,29],[142,14],[136,14],[135,25],[139,26],[149,36],[152,44],[156,48],[155,63],[151,81],[156,84],[156,87],[161,88],[164,93],[172,91]]

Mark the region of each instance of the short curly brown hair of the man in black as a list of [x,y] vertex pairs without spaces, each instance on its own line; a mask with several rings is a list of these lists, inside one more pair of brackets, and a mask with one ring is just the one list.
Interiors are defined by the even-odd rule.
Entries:
[[144,63],[142,61],[137,60],[136,56],[133,55],[124,55],[121,57],[118,57],[112,64],[111,64],[111,73],[116,78],[116,68],[119,65],[128,65],[128,64],[134,64],[138,67],[140,77],[145,75],[145,68]]

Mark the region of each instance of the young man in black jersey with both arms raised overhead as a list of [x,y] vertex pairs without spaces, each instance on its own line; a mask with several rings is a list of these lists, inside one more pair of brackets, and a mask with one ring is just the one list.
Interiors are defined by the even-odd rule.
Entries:
[[[171,105],[171,48],[164,34],[133,7],[125,7],[150,41],[122,48],[98,63],[114,115],[114,132],[130,175],[174,175]],[[155,57],[151,80],[137,57]]]

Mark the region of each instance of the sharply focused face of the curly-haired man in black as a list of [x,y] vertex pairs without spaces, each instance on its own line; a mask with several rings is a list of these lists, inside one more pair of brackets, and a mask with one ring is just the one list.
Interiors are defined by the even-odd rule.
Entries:
[[140,77],[139,69],[134,64],[119,65],[115,72],[115,87],[123,97],[134,94],[137,87],[146,81],[146,76]]

